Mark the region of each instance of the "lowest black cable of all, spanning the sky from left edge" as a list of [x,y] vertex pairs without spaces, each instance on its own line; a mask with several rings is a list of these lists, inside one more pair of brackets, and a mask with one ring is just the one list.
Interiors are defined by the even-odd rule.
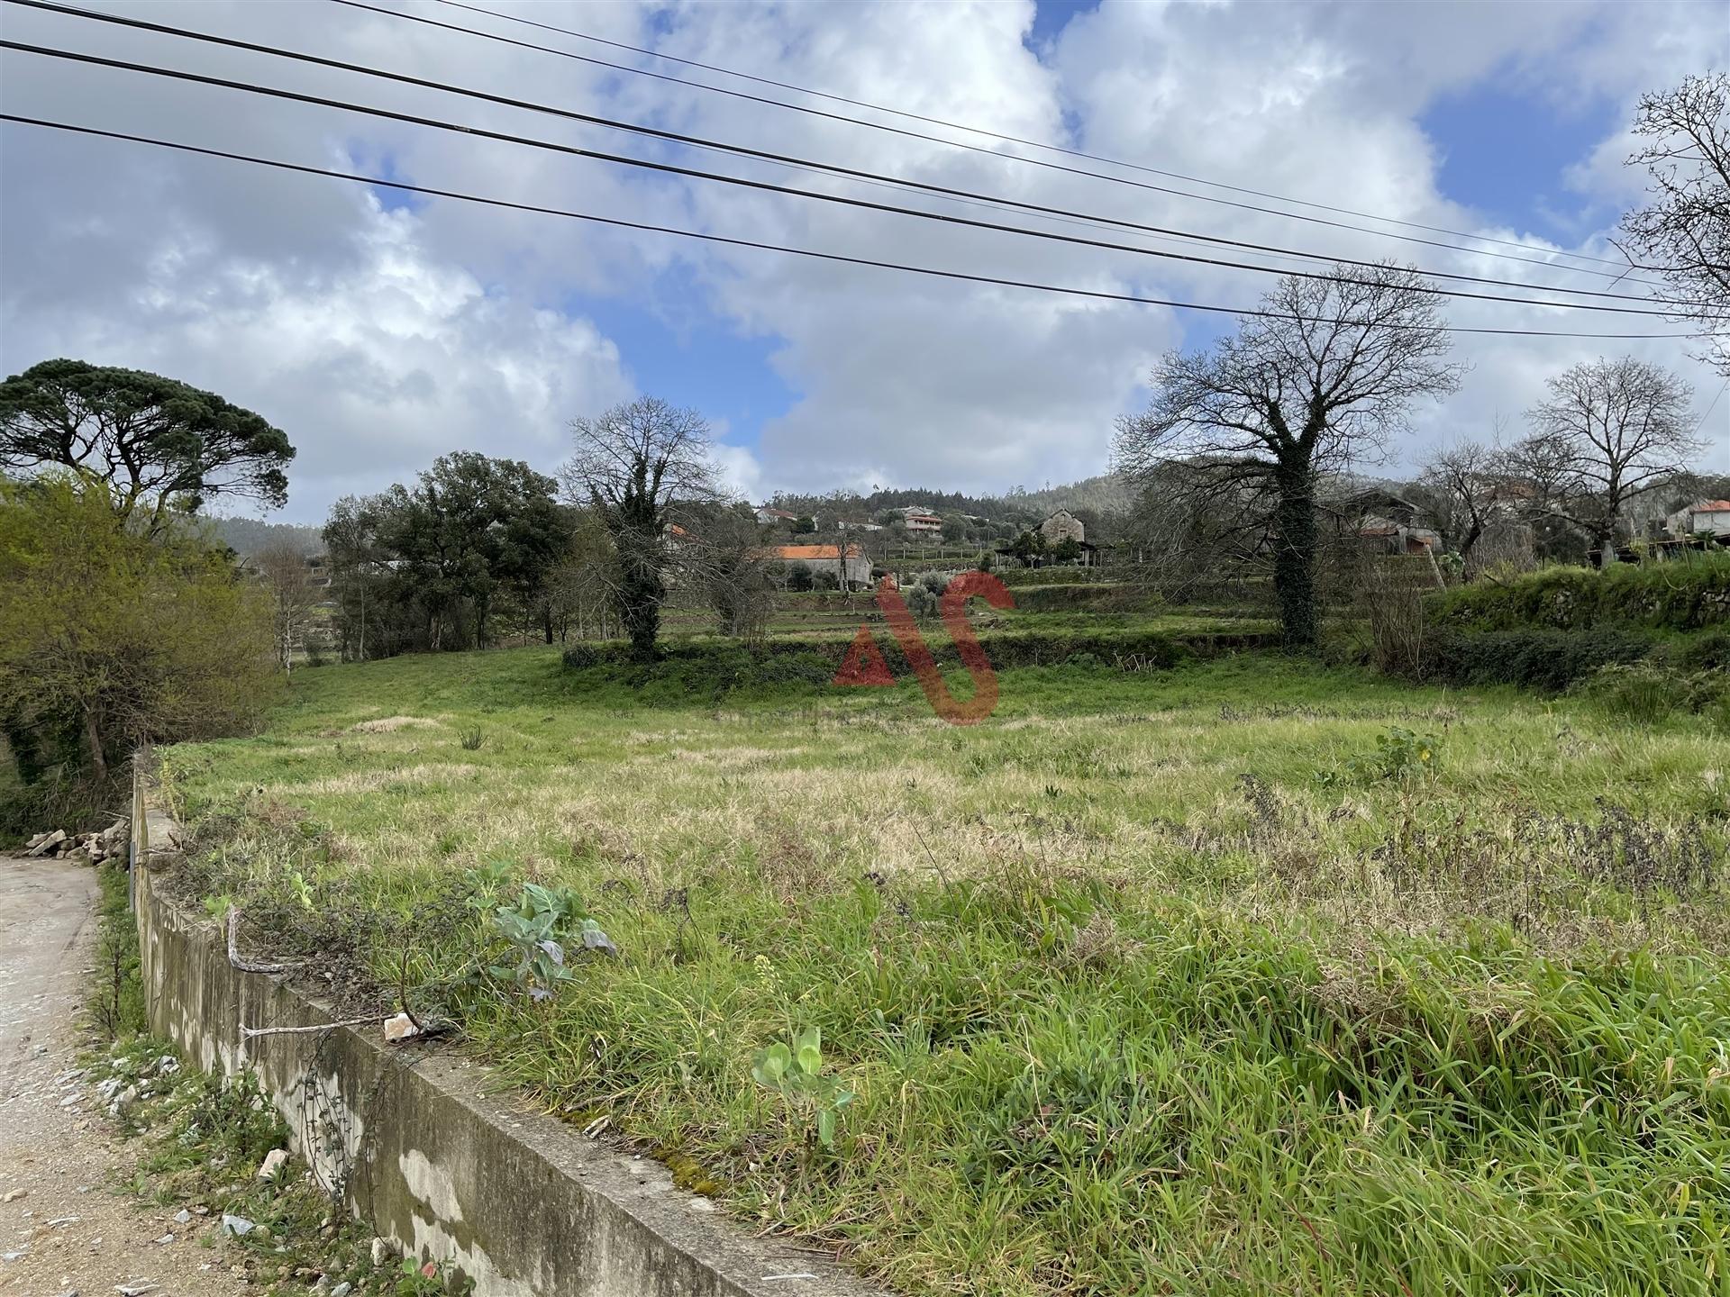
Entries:
[[[1379,320],[1322,320],[1317,316],[1294,315],[1291,311],[1270,311],[1263,308],[1242,308],[1242,306],[1218,306],[1214,303],[1192,303],[1192,301],[1173,301],[1168,297],[1142,297],[1130,292],[1107,292],[1104,289],[1078,289],[1060,284],[1038,284],[1033,280],[1014,280],[1002,278],[996,275],[974,275],[962,270],[943,270],[939,266],[915,266],[898,261],[879,261],[875,258],[848,256],[844,252],[823,252],[813,247],[794,247],[791,244],[770,244],[754,239],[735,239],[732,235],[704,233],[701,230],[682,230],[673,225],[650,225],[647,221],[628,221],[621,216],[600,216],[586,211],[569,211],[566,208],[547,208],[533,202],[514,202],[510,199],[493,199],[481,194],[467,194],[462,190],[434,188],[431,185],[410,185],[403,180],[391,180],[388,176],[367,176],[355,171],[336,171],[332,168],[308,166],[304,163],[287,163],[277,157],[258,157],[254,154],[239,154],[227,149],[208,149],[195,144],[182,144],[178,140],[157,140],[149,135],[130,135],[126,131],[111,131],[97,126],[78,126],[66,121],[50,121],[45,118],[26,118],[17,112],[0,112],[0,121],[14,121],[21,126],[40,126],[45,130],[69,131],[74,135],[90,135],[106,140],[123,140],[126,144],[147,144],[157,149],[173,149],[185,154],[199,154],[204,157],[223,157],[234,163],[249,163],[254,166],[266,166],[279,171],[294,171],[310,176],[327,176],[330,180],[348,180],[360,185],[370,185],[377,188],[394,188],[403,194],[422,194],[426,197],[438,199],[455,199],[458,202],[476,202],[488,208],[503,208],[509,211],[526,211],[541,216],[562,216],[576,221],[592,221],[595,225],[611,225],[621,230],[642,230],[647,233],[671,233],[680,239],[697,239],[708,244],[723,244],[728,247],[751,247],[765,252],[785,252],[791,256],[811,258],[815,261],[834,261],[839,265],[851,266],[874,266],[877,270],[896,270],[908,275],[927,275],[932,278],[960,280],[967,284],[991,284],[1005,289],[1029,289],[1035,292],[1055,292],[1071,297],[1088,297],[1095,301],[1118,301],[1131,303],[1137,306],[1169,306],[1175,310],[1187,311],[1209,311],[1216,315],[1237,315],[1244,318],[1261,318],[1261,320],[1287,320],[1292,323],[1339,323],[1353,329],[1419,329],[1427,325],[1398,325]],[[1503,337],[1588,337],[1588,339],[1607,339],[1607,341],[1644,341],[1644,339],[1685,339],[1692,334],[1588,334],[1573,330],[1555,330],[1555,329],[1486,329],[1486,327],[1465,327],[1465,325],[1438,325],[1438,332],[1445,334],[1490,334]]]

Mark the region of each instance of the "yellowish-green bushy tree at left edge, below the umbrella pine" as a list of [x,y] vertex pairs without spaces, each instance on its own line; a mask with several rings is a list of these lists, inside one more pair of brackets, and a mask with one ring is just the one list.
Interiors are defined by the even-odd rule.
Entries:
[[258,583],[116,495],[74,472],[0,482],[0,716],[38,770],[99,780],[140,742],[244,732],[277,687]]

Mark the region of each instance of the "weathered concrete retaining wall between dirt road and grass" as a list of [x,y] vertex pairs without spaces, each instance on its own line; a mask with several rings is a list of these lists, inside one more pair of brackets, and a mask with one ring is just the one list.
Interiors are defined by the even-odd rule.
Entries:
[[135,859],[151,861],[135,896],[152,1029],[208,1070],[254,1067],[296,1152],[405,1254],[460,1266],[481,1297],[882,1297],[747,1238],[657,1162],[490,1098],[497,1083],[460,1057],[388,1046],[375,1027],[244,1041],[242,1024],[330,1015],[282,979],[234,968],[216,927],[164,896],[171,834],[159,815],[133,820]]

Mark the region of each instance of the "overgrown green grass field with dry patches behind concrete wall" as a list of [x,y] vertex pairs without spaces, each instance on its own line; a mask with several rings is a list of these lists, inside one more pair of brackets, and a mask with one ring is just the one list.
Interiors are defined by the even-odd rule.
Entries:
[[[1000,683],[408,657],[164,761],[253,939],[908,1292],[1723,1290],[1730,740],[1272,655]],[[524,880],[621,951],[545,1001],[488,972]],[[751,1076],[808,1027],[834,1150]]]

